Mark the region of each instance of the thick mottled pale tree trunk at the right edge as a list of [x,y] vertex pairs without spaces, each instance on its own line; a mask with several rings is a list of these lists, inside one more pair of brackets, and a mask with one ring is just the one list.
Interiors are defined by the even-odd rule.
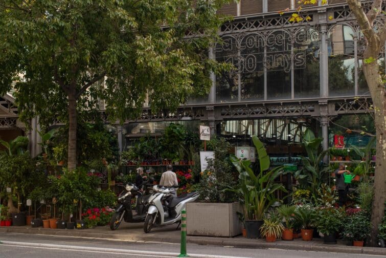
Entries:
[[376,165],[374,178],[374,199],[371,214],[372,232],[369,245],[377,246],[378,225],[384,216],[386,201],[386,95],[379,66],[376,61],[379,51],[377,46],[369,43],[365,58],[373,57],[375,61],[364,65],[364,74],[369,86],[374,107],[374,123],[376,129]]

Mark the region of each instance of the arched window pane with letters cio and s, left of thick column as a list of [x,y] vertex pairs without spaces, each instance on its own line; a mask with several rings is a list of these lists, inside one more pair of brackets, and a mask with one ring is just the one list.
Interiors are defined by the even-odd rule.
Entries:
[[319,33],[313,29],[300,30],[293,48],[294,97],[319,97]]

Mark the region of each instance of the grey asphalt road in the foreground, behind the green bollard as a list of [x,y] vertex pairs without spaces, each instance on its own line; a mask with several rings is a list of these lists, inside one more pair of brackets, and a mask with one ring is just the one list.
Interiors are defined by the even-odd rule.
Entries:
[[[71,238],[50,235],[5,233],[0,236],[0,258],[41,258],[41,257],[176,257],[180,253],[178,244],[160,242],[110,241],[91,238]],[[255,258],[255,257],[384,257],[381,255],[345,254],[329,252],[307,252],[279,249],[241,249],[232,246],[206,246],[189,244],[190,257],[212,258]]]

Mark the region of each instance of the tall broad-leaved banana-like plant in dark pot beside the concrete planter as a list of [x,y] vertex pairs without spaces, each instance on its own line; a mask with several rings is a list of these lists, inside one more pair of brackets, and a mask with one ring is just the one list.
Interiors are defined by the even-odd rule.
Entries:
[[281,183],[275,182],[275,179],[283,173],[283,167],[279,166],[266,171],[270,164],[269,156],[256,135],[252,136],[252,140],[257,150],[260,173],[255,175],[250,160],[241,160],[234,155],[231,155],[231,160],[239,172],[236,189],[243,201],[247,238],[259,238],[264,213],[277,201],[275,191],[286,191],[286,189]]

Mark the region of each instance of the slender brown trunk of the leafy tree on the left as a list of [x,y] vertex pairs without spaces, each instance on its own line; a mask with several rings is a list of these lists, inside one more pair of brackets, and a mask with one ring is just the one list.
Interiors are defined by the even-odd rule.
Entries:
[[[75,89],[74,89],[75,92]],[[69,94],[69,171],[76,169],[76,127],[77,127],[77,111],[75,93]]]

